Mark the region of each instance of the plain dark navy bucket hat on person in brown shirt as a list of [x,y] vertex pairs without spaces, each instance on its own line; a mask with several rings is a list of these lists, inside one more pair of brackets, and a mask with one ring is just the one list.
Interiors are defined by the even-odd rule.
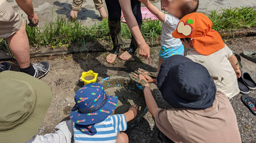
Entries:
[[182,55],[162,63],[157,87],[174,108],[206,109],[215,101],[216,86],[207,69]]

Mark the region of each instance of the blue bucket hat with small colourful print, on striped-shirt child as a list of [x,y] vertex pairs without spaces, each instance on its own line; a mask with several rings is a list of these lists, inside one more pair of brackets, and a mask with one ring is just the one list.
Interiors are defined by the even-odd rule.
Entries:
[[76,92],[75,106],[70,112],[70,119],[79,125],[91,127],[105,120],[115,110],[117,96],[108,96],[100,83],[84,85]]

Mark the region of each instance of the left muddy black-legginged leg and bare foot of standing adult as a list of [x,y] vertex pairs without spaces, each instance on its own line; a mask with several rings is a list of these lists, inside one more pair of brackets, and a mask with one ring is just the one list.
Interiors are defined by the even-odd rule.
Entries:
[[106,57],[106,61],[113,63],[121,46],[121,7],[118,0],[105,0],[109,12],[109,28],[113,42],[113,50]]

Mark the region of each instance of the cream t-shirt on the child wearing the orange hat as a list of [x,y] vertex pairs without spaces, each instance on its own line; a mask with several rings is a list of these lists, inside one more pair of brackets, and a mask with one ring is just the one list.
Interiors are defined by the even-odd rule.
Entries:
[[214,79],[217,89],[226,94],[230,99],[239,94],[237,75],[232,68],[228,58],[232,51],[225,44],[225,47],[210,54],[202,55],[196,50],[188,51],[187,58],[203,65]]

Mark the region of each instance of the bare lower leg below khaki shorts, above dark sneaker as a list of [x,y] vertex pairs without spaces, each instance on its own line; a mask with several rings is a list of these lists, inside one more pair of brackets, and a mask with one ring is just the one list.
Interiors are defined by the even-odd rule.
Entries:
[[30,66],[30,46],[29,39],[26,33],[26,24],[23,20],[23,25],[20,29],[7,38],[9,48],[15,56],[20,68]]

